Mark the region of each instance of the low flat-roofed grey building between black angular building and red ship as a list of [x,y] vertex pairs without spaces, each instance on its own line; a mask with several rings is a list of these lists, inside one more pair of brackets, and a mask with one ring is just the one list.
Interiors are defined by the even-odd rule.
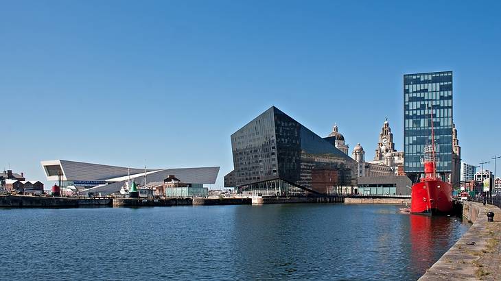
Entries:
[[412,181],[406,175],[386,175],[358,178],[359,195],[410,195]]

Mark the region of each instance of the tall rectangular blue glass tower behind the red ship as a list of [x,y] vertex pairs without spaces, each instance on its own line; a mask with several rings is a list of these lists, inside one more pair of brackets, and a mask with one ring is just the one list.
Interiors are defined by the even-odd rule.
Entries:
[[421,178],[424,147],[432,143],[431,109],[436,169],[447,180],[452,170],[452,71],[404,75],[404,171],[413,182]]

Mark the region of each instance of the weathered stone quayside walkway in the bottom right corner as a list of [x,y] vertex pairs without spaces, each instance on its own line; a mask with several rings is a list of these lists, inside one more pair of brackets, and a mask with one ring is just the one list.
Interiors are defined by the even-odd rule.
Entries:
[[463,216],[473,225],[419,280],[501,280],[501,209],[468,201]]

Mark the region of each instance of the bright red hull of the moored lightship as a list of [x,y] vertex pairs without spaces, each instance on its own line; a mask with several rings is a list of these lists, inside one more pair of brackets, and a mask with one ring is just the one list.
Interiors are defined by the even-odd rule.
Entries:
[[452,212],[452,186],[441,180],[426,180],[412,186],[410,212],[440,215]]

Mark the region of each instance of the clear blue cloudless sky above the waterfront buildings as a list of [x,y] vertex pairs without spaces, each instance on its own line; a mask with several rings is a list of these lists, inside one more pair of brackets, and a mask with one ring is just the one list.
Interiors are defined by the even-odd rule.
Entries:
[[0,7],[0,168],[28,180],[66,159],[221,166],[221,186],[230,135],[272,105],[372,158],[384,117],[403,149],[402,75],[427,71],[454,71],[463,160],[501,154],[500,1]]

